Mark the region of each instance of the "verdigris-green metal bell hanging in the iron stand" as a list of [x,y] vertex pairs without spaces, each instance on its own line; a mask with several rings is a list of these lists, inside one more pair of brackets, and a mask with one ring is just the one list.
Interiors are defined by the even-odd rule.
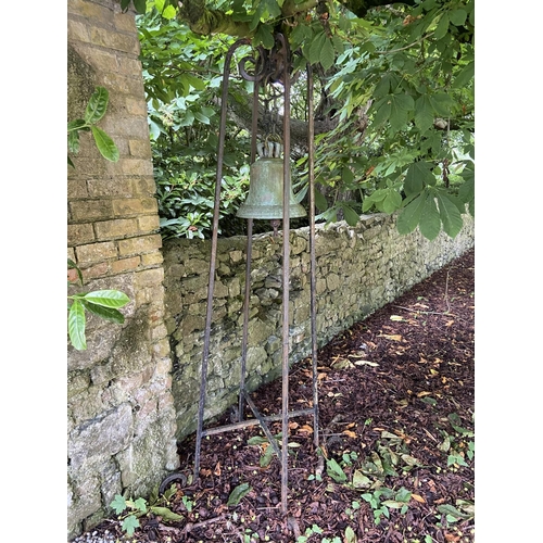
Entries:
[[[261,157],[253,162],[250,172],[249,193],[238,210],[241,218],[282,218],[283,161]],[[306,212],[296,203],[292,188],[289,195],[289,216],[305,217]]]

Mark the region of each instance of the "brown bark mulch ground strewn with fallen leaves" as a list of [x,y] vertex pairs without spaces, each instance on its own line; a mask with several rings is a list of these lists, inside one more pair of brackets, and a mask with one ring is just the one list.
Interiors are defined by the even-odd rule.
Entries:
[[[287,515],[254,426],[205,438],[195,482],[194,439],[180,444],[187,480],[159,504],[181,519],[141,517],[130,541],[473,542],[473,316],[471,250],[319,350],[320,447],[312,416],[290,419]],[[289,386],[291,408],[308,407],[311,359]],[[278,413],[280,380],[252,397]],[[100,529],[124,535],[118,520]]]

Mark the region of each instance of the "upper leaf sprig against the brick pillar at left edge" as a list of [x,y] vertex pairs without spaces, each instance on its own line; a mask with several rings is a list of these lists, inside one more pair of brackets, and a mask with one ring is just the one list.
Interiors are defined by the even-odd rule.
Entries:
[[[90,131],[100,154],[108,161],[118,161],[118,149],[115,146],[115,142],[108,134],[105,134],[104,130],[96,126],[97,123],[105,115],[109,99],[110,94],[108,89],[97,87],[85,110],[85,118],[76,118],[75,121],[68,122],[67,143],[68,151],[72,154],[77,154],[79,152],[79,132]],[[72,167],[75,167],[70,155],[67,160],[68,164]]]

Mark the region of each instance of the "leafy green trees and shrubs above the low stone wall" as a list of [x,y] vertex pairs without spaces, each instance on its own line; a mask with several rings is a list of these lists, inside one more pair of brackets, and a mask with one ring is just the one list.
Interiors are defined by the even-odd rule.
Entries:
[[[283,17],[276,0],[209,5],[230,9],[249,25],[253,46],[266,48]],[[162,232],[201,238],[211,235],[222,74],[235,38],[197,35],[176,9],[169,0],[148,2],[146,13],[137,10],[138,26]],[[473,0],[378,7],[364,18],[328,9],[326,17],[301,13],[282,27],[296,51],[293,118],[305,118],[310,63],[315,115],[336,124],[315,138],[317,220],[354,226],[361,213],[397,213],[402,233],[456,236],[463,214],[475,214]],[[240,48],[232,66],[248,51]],[[251,103],[252,84],[235,67],[229,89],[231,105]],[[228,117],[224,177],[236,195],[220,211],[223,236],[243,228],[235,213],[247,193],[249,148],[250,135]],[[306,163],[303,152],[293,167],[301,195]]]

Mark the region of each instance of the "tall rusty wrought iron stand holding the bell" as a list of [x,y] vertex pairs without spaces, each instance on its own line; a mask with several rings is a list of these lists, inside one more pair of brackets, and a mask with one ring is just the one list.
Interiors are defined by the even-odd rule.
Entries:
[[[236,430],[253,425],[261,425],[264,433],[274,447],[281,463],[281,509],[287,513],[288,500],[288,433],[289,419],[294,416],[313,414],[314,418],[314,444],[318,446],[318,391],[317,391],[317,329],[316,329],[316,277],[315,277],[315,192],[314,192],[314,125],[313,125],[313,73],[307,64],[307,140],[308,140],[308,199],[310,199],[310,262],[311,262],[311,329],[312,329],[312,359],[313,359],[313,406],[310,409],[289,412],[289,285],[290,285],[290,207],[291,195],[291,171],[290,171],[290,92],[291,92],[291,53],[285,36],[277,34],[275,47],[272,51],[258,48],[256,58],[245,56],[239,63],[239,71],[243,78],[254,81],[253,93],[253,117],[252,117],[252,146],[251,163],[256,157],[256,135],[258,122],[258,90],[262,86],[280,83],[283,87],[283,123],[282,123],[282,146],[283,146],[283,188],[282,188],[282,405],[280,415],[262,416],[255,404],[245,390],[245,363],[248,346],[249,327],[249,302],[251,293],[251,255],[252,255],[252,233],[253,218],[248,218],[247,233],[247,267],[245,267],[245,290],[243,303],[243,332],[241,345],[241,368],[240,368],[240,390],[239,390],[239,420],[231,425],[222,426],[205,430],[203,428],[203,417],[205,407],[205,391],[207,381],[207,364],[210,358],[210,336],[213,314],[213,293],[215,286],[215,266],[217,254],[217,232],[219,219],[220,181],[223,178],[223,163],[225,149],[226,112],[228,100],[228,80],[230,76],[230,63],[233,52],[241,46],[249,46],[251,41],[247,38],[238,40],[227,52],[223,73],[223,96],[220,105],[220,127],[217,156],[217,176],[215,185],[215,207],[213,215],[213,235],[210,258],[210,279],[207,287],[207,311],[205,317],[204,346],[201,366],[200,401],[198,411],[198,429],[194,455],[194,477],[200,473],[200,450],[202,438],[219,432]],[[248,62],[253,63],[254,74],[249,74],[245,70]],[[262,150],[262,144],[260,147]],[[277,231],[277,224],[274,225]],[[244,420],[244,404],[251,408],[255,419]],[[277,444],[268,428],[268,422],[282,420],[281,446]]]

